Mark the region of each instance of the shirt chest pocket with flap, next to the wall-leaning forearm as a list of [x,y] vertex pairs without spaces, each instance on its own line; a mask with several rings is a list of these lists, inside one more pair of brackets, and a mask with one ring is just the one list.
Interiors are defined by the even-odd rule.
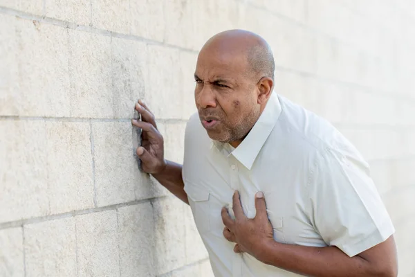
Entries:
[[185,192],[187,193],[194,222],[199,233],[210,231],[212,215],[209,190],[206,190],[202,186],[195,186],[192,183],[185,182]]

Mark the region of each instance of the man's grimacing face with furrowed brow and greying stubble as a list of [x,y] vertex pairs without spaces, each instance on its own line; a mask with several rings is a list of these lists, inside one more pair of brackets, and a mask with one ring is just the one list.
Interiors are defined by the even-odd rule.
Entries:
[[194,91],[199,118],[210,139],[241,141],[260,114],[256,82],[243,55],[201,51]]

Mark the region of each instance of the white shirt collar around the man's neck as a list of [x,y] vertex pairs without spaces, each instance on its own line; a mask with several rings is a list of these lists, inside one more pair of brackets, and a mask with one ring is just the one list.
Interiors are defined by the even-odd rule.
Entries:
[[281,111],[282,107],[279,103],[277,93],[273,92],[254,127],[252,127],[248,136],[243,139],[237,148],[232,151],[230,145],[229,148],[226,148],[225,143],[220,143],[219,141],[212,141],[212,145],[225,154],[225,156],[232,154],[243,166],[250,170],[259,151],[273,130],[275,123],[277,123]]

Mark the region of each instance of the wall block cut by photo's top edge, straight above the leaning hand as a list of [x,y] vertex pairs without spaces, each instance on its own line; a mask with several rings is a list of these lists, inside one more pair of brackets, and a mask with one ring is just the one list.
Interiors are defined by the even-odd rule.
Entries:
[[131,35],[163,42],[166,28],[164,4],[165,1],[130,1]]

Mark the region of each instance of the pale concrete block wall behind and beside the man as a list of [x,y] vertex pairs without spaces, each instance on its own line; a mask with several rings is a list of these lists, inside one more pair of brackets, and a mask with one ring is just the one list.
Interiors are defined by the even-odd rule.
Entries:
[[198,50],[230,28],[264,36],[277,92],[369,161],[415,276],[411,0],[0,0],[0,276],[212,276],[130,118],[144,99],[181,162]]

